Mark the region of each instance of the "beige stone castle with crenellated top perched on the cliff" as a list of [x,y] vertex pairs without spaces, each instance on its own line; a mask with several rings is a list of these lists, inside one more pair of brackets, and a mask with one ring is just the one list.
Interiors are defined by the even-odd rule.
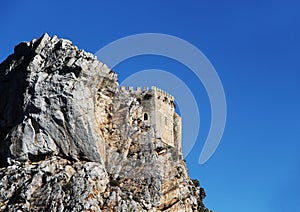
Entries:
[[174,97],[155,86],[143,90],[121,86],[120,90],[127,90],[143,106],[143,124],[154,129],[155,138],[181,152],[181,117],[175,112]]

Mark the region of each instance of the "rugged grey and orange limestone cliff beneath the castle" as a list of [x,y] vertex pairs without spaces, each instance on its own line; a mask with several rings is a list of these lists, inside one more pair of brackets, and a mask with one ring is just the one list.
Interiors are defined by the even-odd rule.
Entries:
[[47,34],[0,64],[0,210],[207,211],[180,149],[140,99],[70,41]]

